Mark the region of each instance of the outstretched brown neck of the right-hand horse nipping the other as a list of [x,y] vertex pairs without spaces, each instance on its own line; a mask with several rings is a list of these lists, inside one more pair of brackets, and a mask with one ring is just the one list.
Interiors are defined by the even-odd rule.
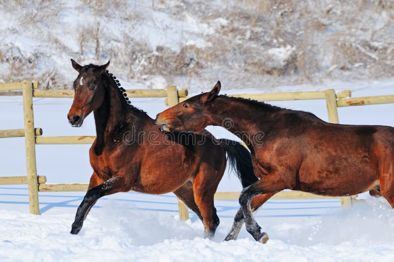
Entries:
[[219,96],[209,109],[213,125],[222,126],[238,136],[248,146],[256,144],[256,135],[270,132],[275,119],[273,113],[281,110],[267,104],[253,104],[242,98]]

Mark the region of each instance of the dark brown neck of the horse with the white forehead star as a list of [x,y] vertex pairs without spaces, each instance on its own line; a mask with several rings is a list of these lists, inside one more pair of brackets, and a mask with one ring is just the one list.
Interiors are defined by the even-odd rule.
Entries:
[[97,133],[97,147],[100,151],[105,140],[112,141],[115,130],[123,123],[138,123],[139,114],[130,109],[118,87],[108,76],[103,76],[104,99],[94,111]]

